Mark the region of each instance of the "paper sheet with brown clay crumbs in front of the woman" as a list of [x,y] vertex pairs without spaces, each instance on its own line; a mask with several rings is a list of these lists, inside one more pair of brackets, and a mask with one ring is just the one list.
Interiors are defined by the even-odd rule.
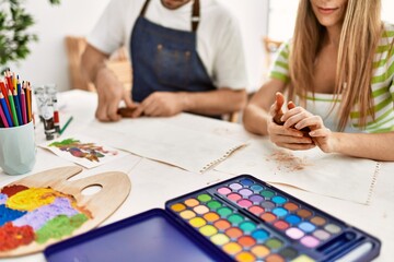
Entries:
[[367,204],[379,163],[320,148],[288,151],[266,139],[250,145],[215,169],[234,175],[250,174],[267,182],[279,182],[341,200]]

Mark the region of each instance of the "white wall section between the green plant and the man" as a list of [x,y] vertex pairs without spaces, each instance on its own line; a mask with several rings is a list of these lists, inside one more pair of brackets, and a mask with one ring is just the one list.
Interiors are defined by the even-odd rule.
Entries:
[[39,40],[31,45],[32,53],[11,70],[33,85],[56,83],[59,90],[70,88],[66,35],[85,35],[99,19],[108,0],[61,0],[50,5],[48,0],[25,1],[26,10],[36,21],[32,32]]

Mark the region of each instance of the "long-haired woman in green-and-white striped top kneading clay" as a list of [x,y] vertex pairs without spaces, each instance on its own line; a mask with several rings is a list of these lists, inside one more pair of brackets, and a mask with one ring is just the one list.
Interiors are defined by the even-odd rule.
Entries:
[[380,0],[301,0],[245,129],[289,150],[394,160],[394,26],[380,14]]

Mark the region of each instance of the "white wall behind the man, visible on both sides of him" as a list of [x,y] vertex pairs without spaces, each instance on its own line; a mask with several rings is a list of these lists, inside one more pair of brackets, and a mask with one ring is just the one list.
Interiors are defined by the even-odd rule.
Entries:
[[[260,37],[265,34],[266,0],[220,0],[240,19],[245,40],[251,88],[260,84],[263,55]],[[57,83],[59,90],[69,90],[68,61],[65,47],[66,35],[86,35],[109,0],[62,0],[50,5],[47,0],[26,1],[26,9],[34,14],[34,32],[39,41],[31,45],[32,53],[19,66],[11,64],[23,80],[34,85]]]

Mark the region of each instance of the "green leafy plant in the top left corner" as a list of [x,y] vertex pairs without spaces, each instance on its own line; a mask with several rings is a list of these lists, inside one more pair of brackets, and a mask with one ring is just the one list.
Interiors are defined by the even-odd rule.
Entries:
[[[10,62],[25,59],[31,52],[28,44],[38,40],[38,36],[28,32],[34,17],[26,12],[24,0],[0,0],[0,68]],[[59,4],[60,0],[49,0]]]

